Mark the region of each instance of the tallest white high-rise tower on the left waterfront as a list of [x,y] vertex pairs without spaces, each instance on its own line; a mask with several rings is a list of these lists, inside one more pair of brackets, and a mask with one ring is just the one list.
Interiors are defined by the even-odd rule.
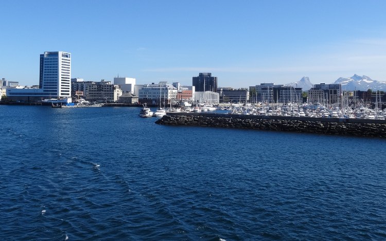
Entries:
[[71,53],[40,54],[39,88],[45,96],[71,97]]

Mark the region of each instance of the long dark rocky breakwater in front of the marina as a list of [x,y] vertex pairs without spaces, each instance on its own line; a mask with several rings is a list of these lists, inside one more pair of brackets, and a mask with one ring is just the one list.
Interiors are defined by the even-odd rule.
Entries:
[[378,120],[173,113],[155,123],[386,138],[386,121]]

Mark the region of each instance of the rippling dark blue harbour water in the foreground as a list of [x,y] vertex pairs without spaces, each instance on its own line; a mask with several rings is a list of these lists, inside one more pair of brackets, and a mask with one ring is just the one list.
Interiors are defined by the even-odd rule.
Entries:
[[386,238],[385,140],[0,105],[1,240]]

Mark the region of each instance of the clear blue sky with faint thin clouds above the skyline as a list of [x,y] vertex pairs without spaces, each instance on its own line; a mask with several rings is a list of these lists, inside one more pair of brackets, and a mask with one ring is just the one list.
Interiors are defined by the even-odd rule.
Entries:
[[39,54],[72,53],[72,78],[222,87],[386,81],[386,1],[7,1],[0,78],[39,83]]

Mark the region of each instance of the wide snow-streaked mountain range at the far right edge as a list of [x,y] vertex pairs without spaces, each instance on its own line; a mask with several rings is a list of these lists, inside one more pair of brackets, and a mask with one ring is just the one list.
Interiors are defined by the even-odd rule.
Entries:
[[350,78],[339,78],[332,84],[341,84],[342,90],[386,90],[385,82],[372,80],[367,76],[354,75]]

